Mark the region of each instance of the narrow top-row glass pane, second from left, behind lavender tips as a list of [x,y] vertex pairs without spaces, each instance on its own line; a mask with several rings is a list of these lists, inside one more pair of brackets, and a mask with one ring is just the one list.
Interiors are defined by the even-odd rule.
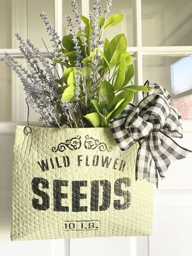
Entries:
[[[82,14],[82,4],[81,0],[76,0],[77,6],[78,6],[78,13],[81,15]],[[63,1],[63,10],[62,10],[62,35],[66,36],[70,33],[68,24],[66,21],[66,15],[70,15],[72,18],[73,26],[75,28],[75,31],[78,32],[77,29],[77,23],[75,21],[74,17],[74,12],[73,12],[73,7],[71,7],[71,1]]]

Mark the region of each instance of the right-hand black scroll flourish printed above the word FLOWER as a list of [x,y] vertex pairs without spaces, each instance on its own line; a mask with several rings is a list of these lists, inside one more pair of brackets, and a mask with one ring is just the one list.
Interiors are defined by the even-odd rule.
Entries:
[[84,147],[88,150],[93,150],[97,147],[99,147],[100,151],[108,151],[111,152],[113,150],[112,147],[107,147],[106,143],[104,142],[99,142],[99,140],[95,140],[93,137],[89,137],[89,135],[85,136],[85,142],[84,142]]

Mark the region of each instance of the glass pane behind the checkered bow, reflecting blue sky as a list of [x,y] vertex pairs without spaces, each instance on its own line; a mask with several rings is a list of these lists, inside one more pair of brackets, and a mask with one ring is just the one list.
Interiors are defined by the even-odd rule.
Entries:
[[143,83],[158,83],[171,94],[171,104],[183,120],[192,120],[192,55],[144,56]]

